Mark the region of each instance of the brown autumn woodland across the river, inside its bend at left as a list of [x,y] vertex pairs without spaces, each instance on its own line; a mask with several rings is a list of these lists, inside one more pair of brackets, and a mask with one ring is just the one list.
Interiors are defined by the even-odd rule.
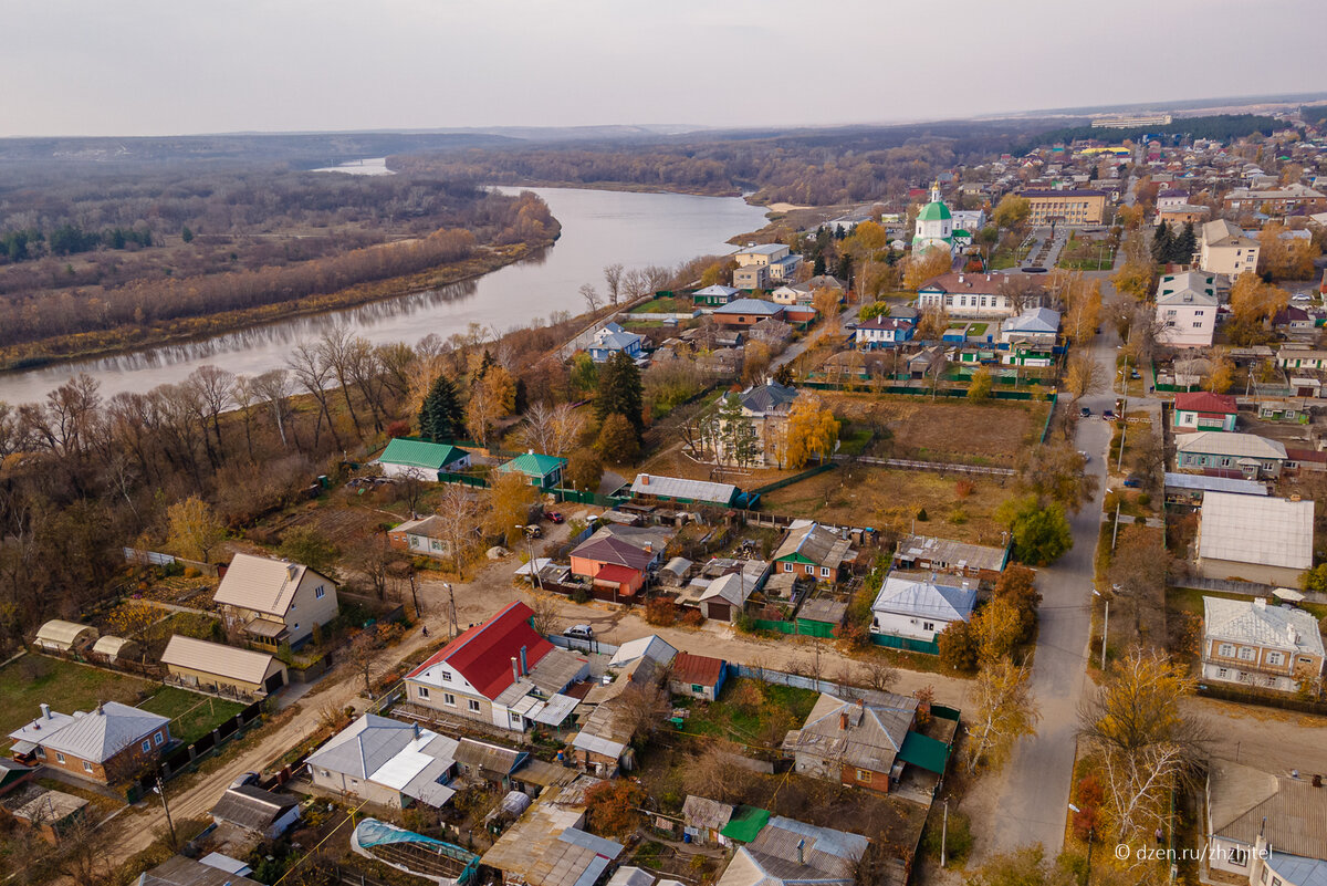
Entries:
[[45,166],[0,184],[9,366],[143,344],[175,321],[332,296],[557,233],[535,195],[451,178],[271,164],[66,172]]

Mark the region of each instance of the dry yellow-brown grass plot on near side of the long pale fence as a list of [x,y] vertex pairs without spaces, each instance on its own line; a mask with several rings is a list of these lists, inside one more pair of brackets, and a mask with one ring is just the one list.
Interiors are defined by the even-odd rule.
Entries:
[[[958,481],[973,484],[971,493],[958,497]],[[904,471],[856,464],[827,471],[800,483],[775,489],[760,499],[775,513],[807,517],[855,527],[892,527],[973,544],[1002,544],[995,508],[1014,495],[1014,479],[955,475],[932,471]]]

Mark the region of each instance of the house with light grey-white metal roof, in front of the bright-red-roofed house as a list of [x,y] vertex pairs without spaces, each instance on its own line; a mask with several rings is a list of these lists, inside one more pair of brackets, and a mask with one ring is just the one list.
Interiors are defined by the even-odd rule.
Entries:
[[459,741],[419,724],[365,714],[309,755],[316,788],[390,809],[442,806],[455,789]]

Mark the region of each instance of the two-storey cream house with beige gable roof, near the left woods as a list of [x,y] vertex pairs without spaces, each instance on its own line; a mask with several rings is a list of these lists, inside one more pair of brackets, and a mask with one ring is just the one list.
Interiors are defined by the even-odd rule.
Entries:
[[299,649],[337,617],[336,582],[289,560],[238,553],[212,594],[227,627],[240,627],[249,643],[276,651]]

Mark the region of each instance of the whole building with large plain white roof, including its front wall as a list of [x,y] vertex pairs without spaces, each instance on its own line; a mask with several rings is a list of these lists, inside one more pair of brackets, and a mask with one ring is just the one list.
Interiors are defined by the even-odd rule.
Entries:
[[1314,565],[1314,503],[1208,492],[1197,550],[1206,578],[1298,588]]

